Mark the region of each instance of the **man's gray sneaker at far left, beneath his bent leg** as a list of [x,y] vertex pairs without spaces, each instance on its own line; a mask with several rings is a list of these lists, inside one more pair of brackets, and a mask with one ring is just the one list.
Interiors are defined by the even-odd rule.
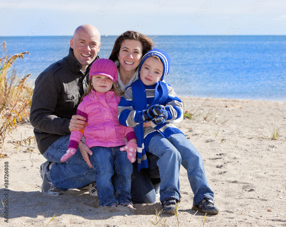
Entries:
[[41,174],[41,178],[43,179],[42,193],[44,195],[62,195],[63,192],[61,190],[57,189],[51,183],[51,179],[49,177],[49,173],[50,173],[49,165],[50,164],[51,164],[50,161],[46,161],[40,167],[40,174]]

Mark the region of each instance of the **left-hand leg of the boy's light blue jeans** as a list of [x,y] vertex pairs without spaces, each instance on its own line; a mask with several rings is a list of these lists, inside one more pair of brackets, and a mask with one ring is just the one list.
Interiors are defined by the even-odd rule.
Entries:
[[148,145],[148,151],[159,157],[160,201],[165,198],[175,198],[180,201],[179,171],[181,155],[167,138],[155,135]]

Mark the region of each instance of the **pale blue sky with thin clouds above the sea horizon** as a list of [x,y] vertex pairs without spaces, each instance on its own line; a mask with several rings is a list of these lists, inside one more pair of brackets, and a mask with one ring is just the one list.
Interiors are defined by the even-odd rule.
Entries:
[[1,0],[0,36],[72,35],[92,24],[101,35],[286,35],[285,0]]

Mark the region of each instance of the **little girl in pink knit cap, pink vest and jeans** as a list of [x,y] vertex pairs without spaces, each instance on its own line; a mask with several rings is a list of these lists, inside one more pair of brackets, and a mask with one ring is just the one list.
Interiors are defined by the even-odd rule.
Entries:
[[[130,202],[131,162],[136,159],[137,144],[133,128],[121,125],[117,118],[120,101],[120,92],[115,85],[117,76],[116,64],[109,59],[100,58],[92,64],[88,90],[77,109],[77,114],[86,118],[87,125],[83,131],[72,131],[67,153],[61,161],[65,162],[76,153],[84,135],[86,145],[93,153],[90,161],[96,172],[100,205],[119,204],[133,208]],[[116,195],[111,183],[114,171]]]

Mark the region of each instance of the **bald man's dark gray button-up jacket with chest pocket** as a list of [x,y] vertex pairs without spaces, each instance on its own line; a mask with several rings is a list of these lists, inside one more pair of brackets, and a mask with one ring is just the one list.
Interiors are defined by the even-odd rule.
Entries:
[[51,64],[36,79],[30,122],[41,154],[57,139],[70,133],[70,119],[88,88],[91,65],[84,74],[82,65],[69,48],[68,56]]

